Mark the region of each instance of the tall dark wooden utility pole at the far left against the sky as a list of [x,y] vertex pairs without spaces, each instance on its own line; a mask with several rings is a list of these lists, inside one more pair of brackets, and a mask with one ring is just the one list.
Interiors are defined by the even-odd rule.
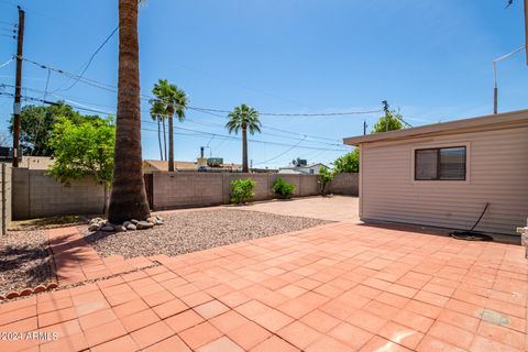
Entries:
[[14,86],[14,106],[13,106],[13,167],[19,167],[19,145],[20,145],[20,112],[21,112],[21,88],[22,88],[22,50],[24,45],[24,20],[25,12],[19,8],[19,33],[16,44],[16,77]]

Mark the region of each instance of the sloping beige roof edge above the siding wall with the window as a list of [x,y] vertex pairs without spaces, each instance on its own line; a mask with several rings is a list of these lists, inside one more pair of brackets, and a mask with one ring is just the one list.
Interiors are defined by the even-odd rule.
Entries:
[[490,131],[497,128],[515,128],[528,124],[528,110],[490,114],[480,118],[455,120],[442,123],[427,124],[418,128],[373,133],[343,139],[344,144],[358,145],[381,141],[413,139],[416,136],[459,134],[466,132]]

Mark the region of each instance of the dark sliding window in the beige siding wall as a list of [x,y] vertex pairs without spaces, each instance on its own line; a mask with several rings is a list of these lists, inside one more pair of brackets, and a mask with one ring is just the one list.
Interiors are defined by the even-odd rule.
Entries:
[[415,180],[465,180],[465,146],[415,151]]

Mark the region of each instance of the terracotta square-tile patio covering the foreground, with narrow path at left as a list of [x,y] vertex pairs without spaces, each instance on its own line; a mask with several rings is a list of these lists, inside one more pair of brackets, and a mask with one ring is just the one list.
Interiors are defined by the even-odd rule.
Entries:
[[58,333],[0,351],[528,349],[518,245],[350,222],[177,257],[100,258],[73,228],[50,240],[62,286],[113,276],[0,305],[2,332]]

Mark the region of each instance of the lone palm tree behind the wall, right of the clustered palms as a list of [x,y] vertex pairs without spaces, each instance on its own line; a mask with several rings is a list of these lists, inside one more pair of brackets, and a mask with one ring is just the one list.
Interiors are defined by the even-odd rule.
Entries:
[[237,107],[228,116],[229,122],[226,129],[229,133],[239,133],[242,130],[242,172],[248,173],[248,130],[251,134],[261,133],[261,121],[258,120],[258,111],[245,103]]

